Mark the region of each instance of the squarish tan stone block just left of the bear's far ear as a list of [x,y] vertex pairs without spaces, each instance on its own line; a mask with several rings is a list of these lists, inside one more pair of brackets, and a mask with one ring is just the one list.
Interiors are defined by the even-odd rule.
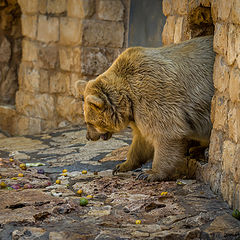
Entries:
[[50,93],[65,93],[70,86],[68,73],[52,72],[50,75]]

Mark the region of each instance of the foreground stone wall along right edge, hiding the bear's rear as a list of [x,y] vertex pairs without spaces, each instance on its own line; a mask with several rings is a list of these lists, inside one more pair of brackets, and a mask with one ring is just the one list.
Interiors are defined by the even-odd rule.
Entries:
[[212,2],[215,24],[213,131],[205,180],[240,209],[240,1]]

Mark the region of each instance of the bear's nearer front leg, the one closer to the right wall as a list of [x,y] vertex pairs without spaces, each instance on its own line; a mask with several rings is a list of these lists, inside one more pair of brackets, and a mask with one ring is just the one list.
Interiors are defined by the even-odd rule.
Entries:
[[161,139],[155,142],[152,170],[139,175],[149,182],[171,179],[177,167],[184,161],[186,142],[184,140]]

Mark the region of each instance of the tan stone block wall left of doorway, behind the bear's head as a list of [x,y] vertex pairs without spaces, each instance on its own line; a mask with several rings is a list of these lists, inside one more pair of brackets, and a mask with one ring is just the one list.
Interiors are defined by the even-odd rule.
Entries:
[[81,124],[75,82],[104,72],[126,47],[127,0],[18,0],[22,61],[13,134]]

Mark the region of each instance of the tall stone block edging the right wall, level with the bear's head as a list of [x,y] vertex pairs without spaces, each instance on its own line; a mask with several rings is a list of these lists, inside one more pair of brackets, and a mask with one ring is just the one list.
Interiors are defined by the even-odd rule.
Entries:
[[228,98],[222,94],[215,94],[213,97],[215,102],[213,109],[213,128],[218,130],[225,130],[228,114]]

